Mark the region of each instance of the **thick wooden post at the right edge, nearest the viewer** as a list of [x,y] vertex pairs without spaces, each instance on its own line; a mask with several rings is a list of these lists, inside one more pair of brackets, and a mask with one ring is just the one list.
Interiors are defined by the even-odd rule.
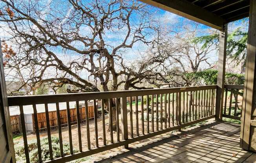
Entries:
[[243,107],[241,116],[240,147],[256,151],[256,127],[251,121],[256,120],[255,99],[255,64],[256,64],[256,0],[250,1],[249,31],[247,56],[245,63],[245,83],[243,91]]

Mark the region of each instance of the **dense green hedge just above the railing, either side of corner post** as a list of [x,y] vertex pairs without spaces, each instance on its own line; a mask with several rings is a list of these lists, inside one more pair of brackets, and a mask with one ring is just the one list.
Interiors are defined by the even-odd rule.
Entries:
[[[208,69],[200,72],[191,72],[186,74],[187,78],[194,78],[195,81],[203,80],[206,85],[217,84],[217,75],[218,71],[215,69]],[[241,85],[244,83],[244,80],[244,74],[234,74],[230,72],[225,74],[225,84]]]

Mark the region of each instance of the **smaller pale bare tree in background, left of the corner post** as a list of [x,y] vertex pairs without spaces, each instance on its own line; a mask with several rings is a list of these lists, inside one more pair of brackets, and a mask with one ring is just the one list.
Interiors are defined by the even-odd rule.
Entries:
[[151,43],[148,53],[155,60],[155,71],[161,73],[163,78],[149,80],[150,83],[157,87],[190,86],[193,78],[188,78],[185,74],[198,72],[202,67],[211,69],[216,65],[217,43],[210,42],[204,47],[201,43],[193,41],[199,34],[212,33],[198,26],[195,22],[186,21],[174,24],[168,30],[165,26],[157,29],[156,38]]

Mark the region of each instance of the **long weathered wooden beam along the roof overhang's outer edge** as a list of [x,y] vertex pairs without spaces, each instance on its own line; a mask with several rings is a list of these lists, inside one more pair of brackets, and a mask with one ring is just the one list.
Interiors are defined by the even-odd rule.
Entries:
[[187,0],[140,1],[219,30],[223,29],[227,22],[220,16],[210,13],[197,5],[192,4],[191,2],[188,2]]

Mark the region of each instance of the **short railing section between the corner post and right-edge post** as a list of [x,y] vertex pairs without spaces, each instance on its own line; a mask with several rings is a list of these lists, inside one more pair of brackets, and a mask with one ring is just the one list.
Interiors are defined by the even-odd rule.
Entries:
[[223,117],[241,119],[243,102],[243,85],[225,85]]

